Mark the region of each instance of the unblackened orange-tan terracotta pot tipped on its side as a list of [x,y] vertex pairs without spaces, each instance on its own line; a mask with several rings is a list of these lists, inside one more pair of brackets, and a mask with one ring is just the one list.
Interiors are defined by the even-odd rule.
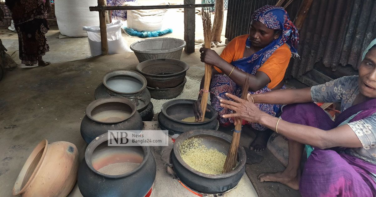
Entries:
[[78,151],[74,144],[42,140],[27,158],[13,187],[23,197],[67,196],[77,179]]

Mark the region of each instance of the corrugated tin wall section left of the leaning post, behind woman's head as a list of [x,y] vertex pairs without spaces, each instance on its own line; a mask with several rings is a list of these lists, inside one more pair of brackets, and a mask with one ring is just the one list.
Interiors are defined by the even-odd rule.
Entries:
[[[302,0],[294,0],[287,8],[291,20],[294,20]],[[236,36],[248,34],[252,13],[264,5],[276,5],[277,0],[229,0],[227,10],[226,34],[230,41]]]

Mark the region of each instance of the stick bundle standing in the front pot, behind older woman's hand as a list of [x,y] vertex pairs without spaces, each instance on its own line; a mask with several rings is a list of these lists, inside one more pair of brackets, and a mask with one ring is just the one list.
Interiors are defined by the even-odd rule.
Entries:
[[[246,78],[246,81],[243,85],[243,93],[241,95],[241,99],[246,100],[247,94],[248,94],[248,87],[249,87],[249,81],[248,78]],[[237,122],[237,125],[235,125],[235,130],[232,134],[232,141],[229,148],[229,151],[227,152],[226,161],[224,162],[223,166],[223,173],[227,173],[231,171],[236,166],[237,156],[238,156],[238,147],[240,142],[240,131],[241,131],[241,125],[243,120],[239,118],[235,118],[234,122]]]

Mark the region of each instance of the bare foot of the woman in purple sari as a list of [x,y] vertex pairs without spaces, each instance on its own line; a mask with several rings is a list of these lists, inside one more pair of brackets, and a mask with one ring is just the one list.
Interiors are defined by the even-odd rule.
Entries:
[[289,186],[292,189],[299,190],[300,172],[296,174],[288,174],[285,171],[276,173],[261,173],[259,174],[258,179],[260,182],[279,182]]

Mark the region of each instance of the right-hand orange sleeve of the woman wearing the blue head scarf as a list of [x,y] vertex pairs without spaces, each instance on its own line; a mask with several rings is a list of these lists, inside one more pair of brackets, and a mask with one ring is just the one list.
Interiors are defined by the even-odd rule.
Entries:
[[290,58],[290,48],[284,44],[274,51],[269,59],[258,69],[258,71],[264,72],[270,78],[268,88],[276,87],[284,79]]

